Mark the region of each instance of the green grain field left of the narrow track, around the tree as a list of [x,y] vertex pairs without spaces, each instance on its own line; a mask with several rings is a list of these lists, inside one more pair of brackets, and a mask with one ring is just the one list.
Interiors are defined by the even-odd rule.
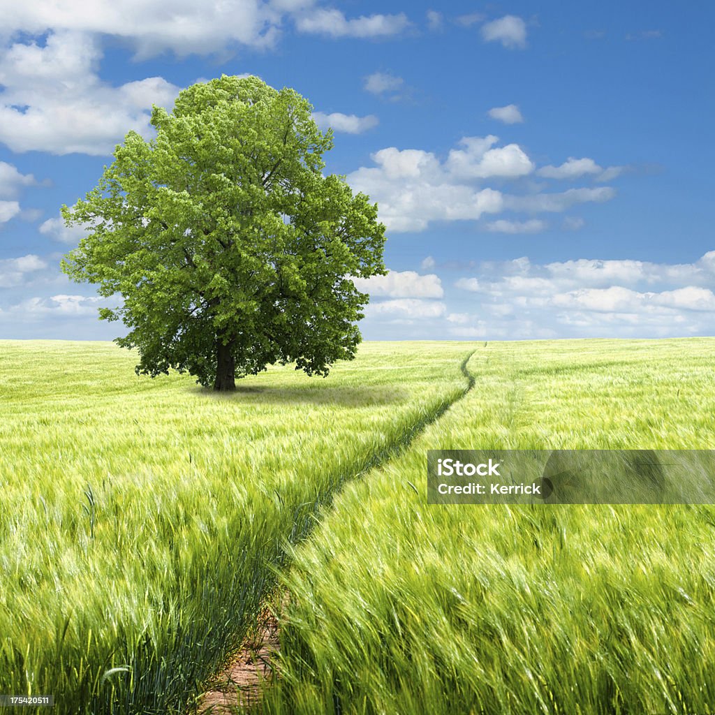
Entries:
[[287,542],[465,390],[459,343],[361,346],[229,396],[101,342],[0,342],[0,693],[57,714],[184,709]]

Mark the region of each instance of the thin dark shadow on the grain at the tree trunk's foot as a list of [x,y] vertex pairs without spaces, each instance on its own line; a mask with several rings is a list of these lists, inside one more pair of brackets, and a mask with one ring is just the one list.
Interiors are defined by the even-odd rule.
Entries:
[[277,387],[272,385],[237,385],[231,393],[217,393],[211,388],[190,388],[195,395],[213,400],[247,405],[341,405],[370,407],[403,403],[410,398],[406,390],[389,385],[305,385]]

